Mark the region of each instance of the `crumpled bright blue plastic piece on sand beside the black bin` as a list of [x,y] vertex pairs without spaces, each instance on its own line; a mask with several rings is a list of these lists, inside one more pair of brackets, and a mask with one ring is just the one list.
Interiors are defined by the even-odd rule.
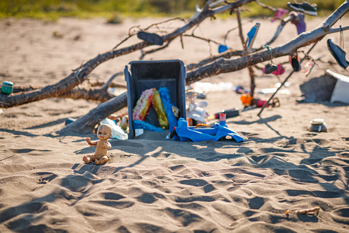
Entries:
[[197,128],[194,126],[188,126],[188,123],[184,118],[178,120],[178,126],[176,127],[176,133],[178,136],[174,137],[174,140],[180,140],[184,142],[191,140],[193,142],[199,141],[218,141],[222,137],[230,136],[237,142],[243,142],[243,137],[239,133],[231,130],[226,125],[226,122],[215,123],[211,128]]

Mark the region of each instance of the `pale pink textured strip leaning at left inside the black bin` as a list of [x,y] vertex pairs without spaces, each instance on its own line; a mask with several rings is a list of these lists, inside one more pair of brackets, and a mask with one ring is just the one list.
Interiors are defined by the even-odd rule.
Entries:
[[142,92],[141,97],[136,102],[136,106],[133,109],[132,120],[144,121],[149,113],[149,109],[152,106],[153,89],[146,89]]

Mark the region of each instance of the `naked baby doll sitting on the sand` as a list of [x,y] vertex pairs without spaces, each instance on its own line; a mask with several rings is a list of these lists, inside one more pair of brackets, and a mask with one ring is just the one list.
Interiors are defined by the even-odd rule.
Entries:
[[101,124],[97,130],[98,142],[91,142],[90,137],[86,137],[86,142],[90,146],[97,146],[94,155],[85,155],[82,160],[89,164],[95,161],[96,165],[108,162],[107,150],[112,148],[112,145],[107,141],[112,136],[112,128],[108,124]]

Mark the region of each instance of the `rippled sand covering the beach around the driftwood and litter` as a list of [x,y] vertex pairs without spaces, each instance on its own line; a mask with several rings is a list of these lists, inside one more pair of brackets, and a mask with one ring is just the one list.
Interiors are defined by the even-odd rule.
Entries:
[[[307,30],[323,20],[306,16]],[[125,19],[112,25],[105,19],[1,19],[0,80],[53,85],[81,63],[115,47],[133,25],[159,21],[163,19]],[[348,23],[344,18],[336,27]],[[173,22],[164,30],[178,25],[182,23]],[[252,25],[245,23],[244,31]],[[262,20],[256,46],[267,41],[277,25]],[[223,41],[226,31],[236,26],[234,17],[208,19],[195,34]],[[296,36],[296,27],[286,25],[272,47]],[[261,118],[257,108],[227,119],[244,142],[175,142],[156,133],[142,139],[112,139],[109,162],[95,166],[82,162],[84,155],[94,152],[84,138],[94,142],[95,134],[56,131],[67,118],[85,115],[98,102],[49,98],[2,109],[0,232],[348,232],[348,104],[299,101],[299,86],[326,69],[349,75],[328,52],[327,38],[339,44],[339,34],[331,34],[316,45],[311,56],[322,56],[324,62],[318,62],[308,77],[300,71],[289,78],[291,85],[282,89],[286,93],[277,95],[280,107],[266,108]],[[349,38],[348,32],[344,38]],[[184,49],[177,38],[145,60],[180,59],[190,64],[217,54],[215,44],[210,49],[204,41],[183,40]],[[125,46],[137,41],[132,38]],[[344,44],[349,47],[347,39]],[[237,30],[229,34],[228,45],[241,48]],[[300,56],[308,49],[300,49]],[[110,60],[89,78],[108,80],[140,55]],[[274,87],[291,71],[287,57],[273,61],[285,63],[285,74],[276,77],[256,70],[257,92]],[[125,83],[123,76],[117,81]],[[202,82],[248,89],[250,77],[244,69]],[[211,89],[206,111],[243,109],[239,98],[232,89]],[[309,131],[314,118],[324,118],[327,133]],[[316,206],[320,211],[315,214],[296,213]]]

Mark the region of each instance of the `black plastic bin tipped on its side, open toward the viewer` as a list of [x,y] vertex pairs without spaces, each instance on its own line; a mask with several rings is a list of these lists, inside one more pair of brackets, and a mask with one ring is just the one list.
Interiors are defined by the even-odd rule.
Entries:
[[[180,118],[186,118],[185,77],[186,69],[182,60],[139,60],[125,66],[125,80],[128,85],[129,139],[135,136],[132,112],[145,89],[167,87],[171,102],[179,109]],[[160,126],[154,107],[151,107],[145,122]]]

